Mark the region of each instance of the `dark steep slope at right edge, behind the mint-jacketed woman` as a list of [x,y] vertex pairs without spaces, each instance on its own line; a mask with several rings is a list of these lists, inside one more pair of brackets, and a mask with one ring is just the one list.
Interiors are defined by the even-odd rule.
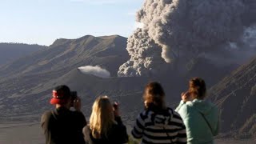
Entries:
[[[221,110],[222,130],[232,137],[256,136],[256,57],[210,89],[210,99]],[[250,128],[254,128],[250,130]]]

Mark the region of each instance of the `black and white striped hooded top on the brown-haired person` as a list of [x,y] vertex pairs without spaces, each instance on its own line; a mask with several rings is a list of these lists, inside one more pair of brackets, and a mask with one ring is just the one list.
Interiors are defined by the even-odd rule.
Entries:
[[186,127],[180,115],[171,108],[154,111],[138,115],[132,130],[134,138],[142,138],[142,144],[186,143]]

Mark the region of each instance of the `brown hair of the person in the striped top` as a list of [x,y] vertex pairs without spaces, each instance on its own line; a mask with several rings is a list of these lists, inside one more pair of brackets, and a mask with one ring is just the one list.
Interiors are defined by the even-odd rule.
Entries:
[[150,82],[146,85],[146,88],[144,90],[144,102],[146,109],[148,109],[150,106],[157,106],[158,108],[165,108],[164,104],[164,96],[165,92],[162,89],[162,86],[158,82]]

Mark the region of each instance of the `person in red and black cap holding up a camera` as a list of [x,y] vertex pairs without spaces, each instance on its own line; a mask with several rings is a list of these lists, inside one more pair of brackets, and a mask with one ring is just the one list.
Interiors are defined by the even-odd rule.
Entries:
[[[82,128],[86,118],[81,112],[81,99],[68,86],[57,86],[52,91],[50,104],[54,110],[42,114],[41,126],[46,144],[85,144]],[[74,107],[74,110],[70,110]]]

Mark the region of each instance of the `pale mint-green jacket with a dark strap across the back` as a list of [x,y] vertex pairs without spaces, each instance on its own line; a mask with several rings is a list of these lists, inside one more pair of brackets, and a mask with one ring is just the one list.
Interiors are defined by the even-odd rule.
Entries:
[[199,99],[186,103],[181,101],[176,111],[181,115],[186,126],[188,144],[214,143],[219,123],[218,108],[214,104]]

